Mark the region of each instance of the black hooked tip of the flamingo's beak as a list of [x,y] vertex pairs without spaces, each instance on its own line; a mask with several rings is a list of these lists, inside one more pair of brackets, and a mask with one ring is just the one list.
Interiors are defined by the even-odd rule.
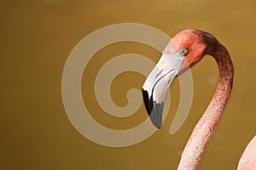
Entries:
[[152,96],[148,96],[148,91],[143,89],[143,99],[144,105],[148,112],[151,122],[154,124],[154,127],[160,130],[162,125],[162,112],[164,108],[164,103],[157,103],[153,100]]

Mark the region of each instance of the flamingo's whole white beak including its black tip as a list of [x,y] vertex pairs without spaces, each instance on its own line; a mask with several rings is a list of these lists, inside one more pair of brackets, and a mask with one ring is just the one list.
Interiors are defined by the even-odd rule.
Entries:
[[144,105],[151,122],[158,129],[162,124],[162,112],[167,91],[173,78],[177,76],[183,58],[183,54],[179,52],[176,54],[162,54],[159,62],[143,84]]

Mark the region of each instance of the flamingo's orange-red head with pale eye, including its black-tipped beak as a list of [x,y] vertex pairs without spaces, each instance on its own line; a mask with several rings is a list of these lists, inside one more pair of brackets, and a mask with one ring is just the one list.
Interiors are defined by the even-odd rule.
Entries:
[[178,32],[168,42],[159,62],[144,82],[144,104],[151,122],[158,129],[162,124],[164,100],[172,80],[202,59],[206,54],[207,37],[212,38],[204,31],[189,29]]

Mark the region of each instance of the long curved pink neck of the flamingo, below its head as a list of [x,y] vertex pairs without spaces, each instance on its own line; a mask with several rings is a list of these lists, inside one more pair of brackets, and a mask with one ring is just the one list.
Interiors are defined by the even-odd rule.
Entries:
[[234,67],[230,59],[230,54],[219,42],[207,47],[205,54],[211,54],[218,63],[218,86],[207,110],[195,125],[193,133],[183,150],[181,161],[177,167],[179,170],[192,170],[198,168],[201,156],[203,155],[203,152],[212,137],[212,133],[217,127],[220,117],[224,113],[224,108],[230,99],[234,75]]

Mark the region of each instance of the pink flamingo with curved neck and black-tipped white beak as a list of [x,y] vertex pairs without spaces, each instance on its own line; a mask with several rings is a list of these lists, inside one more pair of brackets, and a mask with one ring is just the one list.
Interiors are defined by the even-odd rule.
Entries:
[[[183,150],[177,167],[179,170],[198,168],[212,133],[224,113],[224,108],[230,99],[234,77],[230,54],[216,37],[205,31],[195,29],[180,31],[168,42],[159,62],[143,84],[143,100],[148,116],[154,126],[160,129],[164,100],[173,78],[197,64],[206,54],[212,55],[218,63],[218,86]],[[245,162],[242,160],[246,159],[254,159],[252,162],[255,164],[255,141],[256,139],[251,144],[253,146],[247,148],[250,152],[254,147],[254,157],[242,156],[244,159],[241,159],[241,164]],[[247,155],[246,152],[245,154]]]

